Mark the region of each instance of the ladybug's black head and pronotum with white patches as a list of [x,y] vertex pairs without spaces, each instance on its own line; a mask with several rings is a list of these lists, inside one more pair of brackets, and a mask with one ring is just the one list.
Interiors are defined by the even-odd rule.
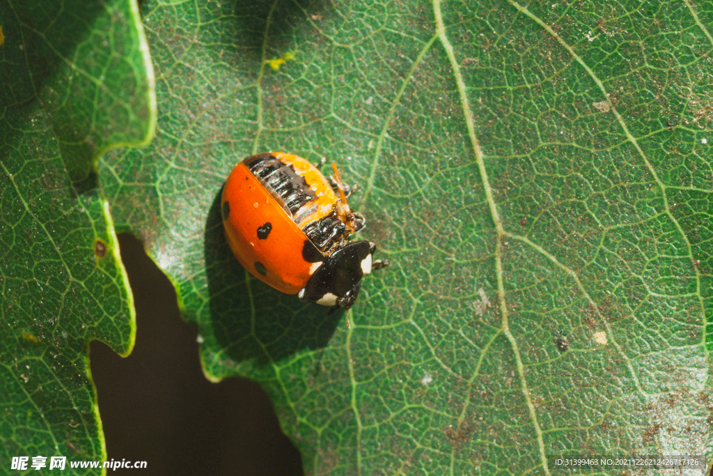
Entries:
[[321,305],[351,308],[359,295],[361,278],[371,273],[374,250],[374,243],[358,241],[334,251],[299,291],[299,298]]

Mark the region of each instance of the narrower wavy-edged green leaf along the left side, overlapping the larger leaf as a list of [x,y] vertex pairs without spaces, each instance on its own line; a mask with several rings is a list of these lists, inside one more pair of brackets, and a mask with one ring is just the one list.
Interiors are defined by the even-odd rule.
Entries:
[[0,460],[100,460],[88,345],[126,355],[135,325],[96,161],[153,133],[145,39],[125,0],[3,0],[0,23]]

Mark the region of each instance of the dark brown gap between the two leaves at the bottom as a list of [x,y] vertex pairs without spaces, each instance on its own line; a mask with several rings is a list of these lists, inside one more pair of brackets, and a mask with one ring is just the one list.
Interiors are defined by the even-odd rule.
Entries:
[[267,395],[247,379],[205,380],[195,328],[180,318],[168,278],[139,240],[120,235],[119,243],[135,299],[136,344],[121,358],[91,343],[108,460],[146,461],[146,475],[302,475],[299,452]]

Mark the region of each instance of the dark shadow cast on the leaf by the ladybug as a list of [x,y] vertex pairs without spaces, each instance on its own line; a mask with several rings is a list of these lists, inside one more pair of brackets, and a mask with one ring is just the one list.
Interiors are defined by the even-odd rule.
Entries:
[[221,348],[238,362],[277,362],[303,349],[323,348],[344,312],[302,303],[252,278],[225,239],[217,193],[205,224],[205,263],[210,316]]

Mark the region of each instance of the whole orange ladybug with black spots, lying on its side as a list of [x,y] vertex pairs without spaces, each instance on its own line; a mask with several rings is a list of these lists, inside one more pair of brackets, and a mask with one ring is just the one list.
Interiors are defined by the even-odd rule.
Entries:
[[237,260],[263,283],[349,309],[361,278],[388,263],[374,260],[374,243],[349,240],[366,221],[349,208],[351,189],[337,166],[331,179],[319,166],[284,152],[238,163],[222,191],[225,236]]

